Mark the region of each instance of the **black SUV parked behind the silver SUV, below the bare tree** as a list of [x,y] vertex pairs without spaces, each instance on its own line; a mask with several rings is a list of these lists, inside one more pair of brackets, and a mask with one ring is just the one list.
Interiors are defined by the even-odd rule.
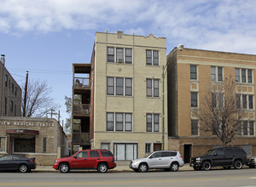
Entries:
[[221,147],[208,150],[204,156],[191,158],[190,167],[195,170],[210,170],[212,167],[235,167],[241,169],[247,163],[247,153],[239,147]]

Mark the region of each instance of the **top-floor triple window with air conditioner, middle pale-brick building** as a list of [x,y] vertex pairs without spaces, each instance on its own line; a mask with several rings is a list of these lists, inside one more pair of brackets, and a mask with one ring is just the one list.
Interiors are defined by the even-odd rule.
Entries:
[[131,48],[108,47],[108,62],[132,64]]

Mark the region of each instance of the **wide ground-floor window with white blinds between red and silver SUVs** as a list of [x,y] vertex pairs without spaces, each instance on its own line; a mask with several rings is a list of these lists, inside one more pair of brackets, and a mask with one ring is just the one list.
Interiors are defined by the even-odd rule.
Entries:
[[116,161],[137,159],[137,144],[113,144],[113,155]]

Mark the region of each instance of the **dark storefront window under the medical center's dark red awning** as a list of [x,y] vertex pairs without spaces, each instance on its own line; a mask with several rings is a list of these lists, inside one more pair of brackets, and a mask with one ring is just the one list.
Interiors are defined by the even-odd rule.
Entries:
[[36,147],[36,140],[35,138],[31,139],[20,139],[15,138],[15,152],[35,152]]

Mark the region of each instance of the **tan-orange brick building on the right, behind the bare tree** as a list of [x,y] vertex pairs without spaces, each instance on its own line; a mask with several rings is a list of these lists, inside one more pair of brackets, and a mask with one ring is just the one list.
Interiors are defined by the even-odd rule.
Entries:
[[256,56],[174,48],[167,63],[169,149],[179,150],[189,162],[191,156],[221,145],[216,136],[201,131],[195,109],[200,109],[201,95],[210,84],[231,76],[236,80],[236,90],[241,90],[241,104],[250,116],[243,119],[244,125],[233,145],[242,147],[247,155],[256,154]]

